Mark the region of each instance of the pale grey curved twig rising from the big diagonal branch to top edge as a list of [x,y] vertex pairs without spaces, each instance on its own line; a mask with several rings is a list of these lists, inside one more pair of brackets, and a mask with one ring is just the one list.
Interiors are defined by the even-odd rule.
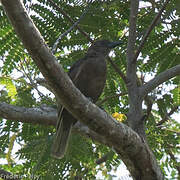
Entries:
[[89,10],[89,7],[90,7],[90,3],[92,2],[92,0],[89,2],[89,4],[87,5],[87,7],[85,8],[84,12],[81,14],[80,18],[66,31],[64,32],[63,34],[61,34],[59,36],[59,38],[56,40],[56,42],[54,43],[53,47],[52,47],[52,53],[54,54],[56,49],[57,49],[57,45],[59,43],[59,41],[64,37],[66,36],[69,32],[72,31],[72,29],[74,29],[79,23],[80,21],[83,19],[83,17],[87,14],[88,10]]

